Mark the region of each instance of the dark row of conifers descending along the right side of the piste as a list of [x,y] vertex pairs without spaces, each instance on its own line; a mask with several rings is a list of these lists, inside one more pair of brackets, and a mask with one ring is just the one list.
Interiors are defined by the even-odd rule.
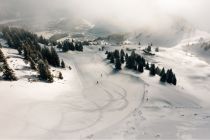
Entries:
[[160,69],[155,64],[149,64],[146,62],[145,58],[139,54],[136,54],[135,51],[132,51],[130,55],[125,54],[124,50],[115,50],[114,52],[106,51],[107,59],[110,60],[110,63],[115,64],[116,70],[121,70],[121,64],[125,62],[125,67],[127,69],[132,69],[140,73],[144,72],[144,69],[149,70],[151,76],[159,75],[160,81],[169,84],[176,85],[177,79],[176,75],[173,73],[172,69],[165,72],[165,68]]

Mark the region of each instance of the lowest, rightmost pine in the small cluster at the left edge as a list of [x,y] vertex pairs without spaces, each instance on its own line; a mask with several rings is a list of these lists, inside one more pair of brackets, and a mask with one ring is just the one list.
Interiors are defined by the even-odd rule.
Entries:
[[7,62],[3,65],[3,79],[9,81],[17,81],[17,77],[15,76],[12,69],[9,68]]

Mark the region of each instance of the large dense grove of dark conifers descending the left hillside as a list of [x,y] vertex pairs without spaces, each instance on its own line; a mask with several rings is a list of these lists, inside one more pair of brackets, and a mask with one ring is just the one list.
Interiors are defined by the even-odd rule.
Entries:
[[2,28],[3,38],[9,47],[17,49],[24,59],[30,62],[31,69],[37,70],[41,80],[53,81],[49,65],[54,67],[65,67],[65,63],[60,58],[54,47],[41,47],[43,45],[56,44],[45,38],[19,28]]

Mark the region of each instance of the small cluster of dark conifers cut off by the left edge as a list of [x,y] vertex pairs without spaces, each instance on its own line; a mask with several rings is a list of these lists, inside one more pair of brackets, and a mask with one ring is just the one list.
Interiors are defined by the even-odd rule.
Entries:
[[3,65],[3,67],[2,67],[3,79],[9,80],[9,81],[16,81],[17,77],[15,76],[13,70],[9,67],[9,65],[6,61],[6,58],[5,58],[1,49],[0,49],[0,63],[2,63],[1,65]]

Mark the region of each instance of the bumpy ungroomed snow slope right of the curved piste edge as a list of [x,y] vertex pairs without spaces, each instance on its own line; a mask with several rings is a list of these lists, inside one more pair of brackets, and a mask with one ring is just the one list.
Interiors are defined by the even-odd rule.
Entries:
[[161,85],[158,77],[149,77],[147,72],[139,75],[123,71],[147,83],[141,106],[123,122],[95,134],[94,138],[208,139],[210,65],[185,53],[180,45],[161,48],[156,56],[147,59],[159,67],[172,68],[178,77],[177,87]]

